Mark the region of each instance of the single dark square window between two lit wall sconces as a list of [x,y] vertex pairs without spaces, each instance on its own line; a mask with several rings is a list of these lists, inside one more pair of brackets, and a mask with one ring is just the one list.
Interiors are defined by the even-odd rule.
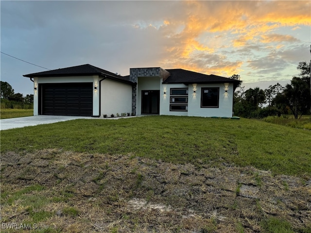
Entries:
[[201,108],[219,107],[219,87],[201,88]]

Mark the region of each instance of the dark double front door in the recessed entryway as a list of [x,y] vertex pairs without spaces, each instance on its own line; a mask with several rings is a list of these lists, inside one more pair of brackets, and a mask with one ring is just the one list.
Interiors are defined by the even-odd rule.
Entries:
[[141,91],[141,114],[159,114],[160,91]]

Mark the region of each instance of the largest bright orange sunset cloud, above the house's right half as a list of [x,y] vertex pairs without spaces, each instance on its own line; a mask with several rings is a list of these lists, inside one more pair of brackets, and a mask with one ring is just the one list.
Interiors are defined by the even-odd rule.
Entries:
[[[284,26],[295,29],[311,25],[310,1],[182,1],[183,16],[173,16],[164,22],[167,37],[174,43],[168,45],[168,56],[163,67],[181,67],[202,73],[231,76],[241,72],[242,61],[228,58],[211,64],[198,54],[221,54],[220,48],[235,48],[250,44],[269,45],[278,42],[297,42],[292,35],[281,35],[275,30]],[[184,28],[172,33],[178,26]],[[217,37],[217,48],[211,46]],[[212,41],[212,42],[210,42]],[[273,48],[276,48],[275,46]],[[231,58],[232,59],[232,58]]]

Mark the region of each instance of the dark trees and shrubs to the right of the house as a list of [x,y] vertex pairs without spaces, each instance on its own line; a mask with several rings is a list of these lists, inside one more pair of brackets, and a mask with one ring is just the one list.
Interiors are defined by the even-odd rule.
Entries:
[[276,83],[264,90],[256,87],[244,91],[240,75],[232,75],[230,78],[240,81],[233,97],[234,115],[263,118],[293,114],[295,119],[310,115],[310,65],[300,62],[297,67],[299,74],[293,77],[291,83],[286,86]]

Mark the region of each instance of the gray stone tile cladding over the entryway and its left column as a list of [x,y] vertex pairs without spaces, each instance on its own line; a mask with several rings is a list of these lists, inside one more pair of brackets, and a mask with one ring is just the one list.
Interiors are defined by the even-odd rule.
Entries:
[[[164,82],[169,76],[170,72],[161,67],[152,68],[130,68],[130,81],[137,83],[138,77],[160,77]],[[132,112],[136,114],[137,103],[137,86],[133,86],[132,90]]]

